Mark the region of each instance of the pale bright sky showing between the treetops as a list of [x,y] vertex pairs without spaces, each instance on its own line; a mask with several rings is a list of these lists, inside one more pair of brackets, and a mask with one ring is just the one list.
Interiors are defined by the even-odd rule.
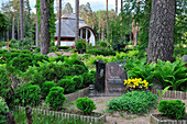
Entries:
[[[9,0],[0,0],[0,7],[2,2],[8,2]],[[56,1],[56,0],[55,0]],[[32,12],[35,13],[35,2],[36,0],[30,0],[30,5],[32,8]],[[73,7],[73,10],[75,11],[75,0],[62,0],[63,5],[67,2],[69,2]],[[86,4],[87,2],[90,3],[92,11],[98,11],[98,10],[106,10],[106,0],[79,0],[79,4]],[[118,12],[120,12],[121,8],[121,0],[118,0]],[[55,4],[56,5],[56,4]],[[109,0],[109,10],[116,9],[116,0]]]

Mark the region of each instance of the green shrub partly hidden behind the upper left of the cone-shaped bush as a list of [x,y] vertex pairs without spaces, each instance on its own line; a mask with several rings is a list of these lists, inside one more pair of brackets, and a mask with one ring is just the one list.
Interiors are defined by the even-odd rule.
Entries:
[[42,84],[42,89],[41,89],[42,95],[46,98],[50,92],[50,89],[53,87],[56,87],[56,83],[54,81],[45,81]]

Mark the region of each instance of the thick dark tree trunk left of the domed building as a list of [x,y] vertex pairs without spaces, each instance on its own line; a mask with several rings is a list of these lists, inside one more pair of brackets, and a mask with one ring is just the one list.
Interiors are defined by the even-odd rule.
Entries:
[[48,54],[51,42],[50,35],[50,2],[41,0],[41,55]]

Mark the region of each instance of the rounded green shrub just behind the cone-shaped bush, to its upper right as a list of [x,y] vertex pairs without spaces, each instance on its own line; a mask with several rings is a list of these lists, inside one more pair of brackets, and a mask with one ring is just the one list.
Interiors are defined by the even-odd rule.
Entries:
[[57,86],[64,88],[64,93],[75,92],[75,82],[73,79],[61,79]]

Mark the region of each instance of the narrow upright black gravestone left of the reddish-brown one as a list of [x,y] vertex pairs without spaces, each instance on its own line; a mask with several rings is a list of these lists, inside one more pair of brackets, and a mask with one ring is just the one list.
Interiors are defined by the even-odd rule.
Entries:
[[95,89],[97,92],[105,92],[105,79],[106,79],[106,64],[103,60],[97,60],[95,81]]

